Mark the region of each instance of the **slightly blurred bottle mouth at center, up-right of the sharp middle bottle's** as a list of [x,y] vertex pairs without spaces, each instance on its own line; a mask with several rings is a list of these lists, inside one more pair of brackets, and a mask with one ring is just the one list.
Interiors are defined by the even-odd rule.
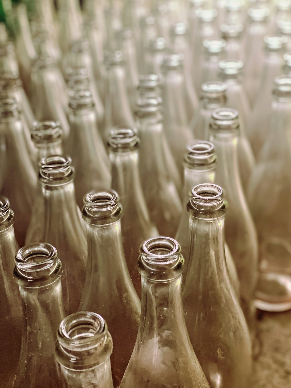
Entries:
[[113,128],[110,131],[108,145],[114,152],[133,151],[139,146],[137,132],[131,128]]

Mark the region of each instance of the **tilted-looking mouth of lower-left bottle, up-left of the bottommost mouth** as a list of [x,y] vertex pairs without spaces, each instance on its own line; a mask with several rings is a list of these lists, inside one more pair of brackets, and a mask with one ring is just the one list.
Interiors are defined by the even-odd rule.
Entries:
[[24,246],[15,256],[16,272],[24,280],[40,280],[58,272],[61,262],[57,249],[46,242]]

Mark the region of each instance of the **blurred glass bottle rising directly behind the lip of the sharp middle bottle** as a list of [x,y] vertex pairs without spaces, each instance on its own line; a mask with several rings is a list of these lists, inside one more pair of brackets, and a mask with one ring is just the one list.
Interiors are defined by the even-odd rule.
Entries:
[[89,90],[75,90],[69,98],[71,127],[69,152],[76,168],[76,199],[82,208],[83,196],[92,189],[110,187],[110,167],[97,127],[94,101]]

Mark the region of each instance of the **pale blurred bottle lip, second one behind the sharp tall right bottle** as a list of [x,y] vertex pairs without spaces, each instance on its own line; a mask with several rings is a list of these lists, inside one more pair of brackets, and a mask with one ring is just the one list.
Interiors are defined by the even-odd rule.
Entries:
[[218,108],[211,114],[210,128],[216,133],[239,133],[239,115],[236,109]]

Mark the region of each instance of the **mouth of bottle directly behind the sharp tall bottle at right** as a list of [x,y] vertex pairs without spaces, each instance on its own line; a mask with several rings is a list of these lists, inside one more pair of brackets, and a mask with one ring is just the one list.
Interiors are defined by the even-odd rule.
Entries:
[[193,140],[187,145],[184,161],[191,167],[213,165],[216,163],[214,145],[204,140]]

